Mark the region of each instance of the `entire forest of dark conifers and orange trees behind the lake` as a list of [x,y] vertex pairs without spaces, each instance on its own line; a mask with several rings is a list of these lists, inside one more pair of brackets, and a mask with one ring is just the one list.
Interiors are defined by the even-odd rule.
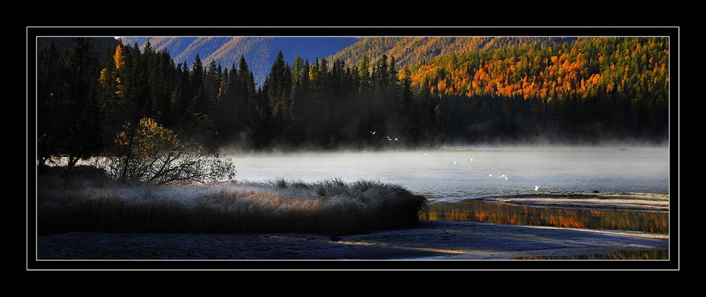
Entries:
[[277,51],[261,84],[244,55],[54,40],[37,49],[40,164],[140,129],[238,150],[669,143],[669,37],[365,38],[313,61]]

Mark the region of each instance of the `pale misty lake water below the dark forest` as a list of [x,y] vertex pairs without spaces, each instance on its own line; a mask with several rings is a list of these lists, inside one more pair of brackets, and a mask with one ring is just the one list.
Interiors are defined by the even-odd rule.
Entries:
[[227,156],[236,166],[238,181],[372,180],[403,186],[431,201],[534,193],[535,185],[539,192],[669,193],[669,147],[472,147]]

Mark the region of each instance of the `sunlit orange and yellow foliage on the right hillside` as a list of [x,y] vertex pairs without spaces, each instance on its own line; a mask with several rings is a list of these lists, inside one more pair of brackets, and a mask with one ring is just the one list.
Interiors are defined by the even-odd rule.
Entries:
[[[597,40],[601,42],[607,39]],[[655,47],[654,44],[659,42],[652,42],[652,44]],[[590,48],[580,45],[570,47],[568,51],[565,48],[553,49],[552,47],[544,47],[541,51],[522,51],[508,47],[503,51],[493,52],[486,58],[459,55],[452,59],[446,56],[440,59],[439,63],[432,61],[419,66],[417,71],[412,73],[412,83],[431,82],[431,90],[439,95],[453,94],[467,97],[521,95],[525,99],[537,97],[546,102],[553,97],[561,99],[573,93],[580,97],[595,96],[599,87],[611,91],[618,84],[610,85],[609,80],[620,82],[621,90],[630,87],[625,84],[633,83],[635,80],[649,80],[645,90],[650,92],[657,90],[655,86],[666,85],[666,82],[662,83],[666,76],[662,73],[667,71],[664,58],[647,54],[647,44],[628,45],[630,46],[628,56],[617,50],[617,54],[612,52],[606,54],[606,51],[591,51],[589,54]],[[613,49],[607,47],[606,50]],[[629,56],[630,52],[633,56]],[[657,53],[664,54],[661,50]],[[601,62],[605,59],[616,60],[602,66]],[[632,66],[634,63],[626,62],[628,59],[636,59],[638,68],[644,67],[650,71],[635,73],[634,69],[628,68],[628,65],[634,67]],[[644,66],[640,66],[642,64]],[[607,68],[600,69],[597,66]],[[621,70],[616,73],[618,67]],[[615,74],[606,75],[606,71]],[[636,78],[635,75],[639,76]],[[621,77],[623,80],[616,79]]]

